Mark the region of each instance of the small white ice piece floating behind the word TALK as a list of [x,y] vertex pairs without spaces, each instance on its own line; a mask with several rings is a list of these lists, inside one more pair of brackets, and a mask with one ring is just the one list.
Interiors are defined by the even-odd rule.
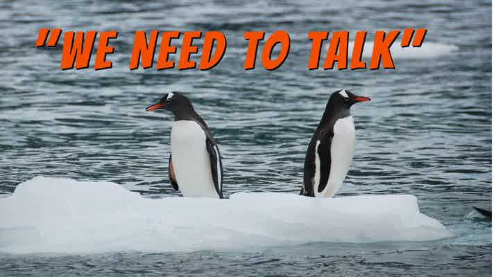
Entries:
[[[348,43],[348,53],[352,55],[354,42]],[[373,42],[366,42],[364,44],[364,51],[362,57],[371,57],[374,48]],[[443,55],[451,55],[452,53],[459,50],[459,47],[453,44],[440,44],[436,42],[424,42],[420,47],[402,47],[400,42],[395,42],[391,46],[391,57],[397,59],[409,59],[409,60],[420,60],[432,57],[441,57]]]

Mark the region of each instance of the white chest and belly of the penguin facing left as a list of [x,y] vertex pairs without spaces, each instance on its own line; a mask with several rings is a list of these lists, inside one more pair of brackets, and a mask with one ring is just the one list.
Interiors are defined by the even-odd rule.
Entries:
[[219,197],[212,181],[206,134],[198,123],[191,120],[173,122],[171,159],[184,197]]

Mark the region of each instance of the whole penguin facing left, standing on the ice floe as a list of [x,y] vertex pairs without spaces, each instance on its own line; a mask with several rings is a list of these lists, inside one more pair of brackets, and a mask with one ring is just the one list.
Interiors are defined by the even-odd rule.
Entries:
[[223,163],[214,137],[205,121],[182,93],[167,93],[146,111],[171,111],[169,179],[184,197],[223,198]]

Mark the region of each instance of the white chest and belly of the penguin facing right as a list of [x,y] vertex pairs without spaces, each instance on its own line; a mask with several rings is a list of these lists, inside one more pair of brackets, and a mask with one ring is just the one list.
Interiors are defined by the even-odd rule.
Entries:
[[333,133],[330,147],[330,178],[321,193],[317,193],[317,188],[314,189],[317,197],[332,197],[337,193],[348,173],[355,153],[355,125],[353,125],[352,116],[338,119],[334,123]]

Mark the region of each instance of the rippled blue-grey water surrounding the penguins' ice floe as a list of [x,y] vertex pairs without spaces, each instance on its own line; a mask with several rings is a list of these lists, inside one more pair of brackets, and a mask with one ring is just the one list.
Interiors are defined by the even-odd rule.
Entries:
[[[0,276],[491,276],[491,222],[471,208],[491,206],[491,2],[337,2],[2,1],[0,193],[8,197],[42,175],[177,196],[167,176],[171,116],[144,111],[171,90],[185,91],[212,129],[225,195],[297,193],[325,102],[346,88],[373,100],[352,109],[357,145],[339,195],[416,195],[420,211],[456,238],[192,253],[0,253]],[[110,42],[113,69],[61,71],[61,46],[35,48],[39,28],[119,31]],[[306,69],[310,30],[368,30],[372,39],[374,30],[402,28],[427,28],[425,43],[457,51],[395,57],[395,70]],[[135,30],[155,29],[220,30],[228,48],[210,71],[129,71]],[[255,71],[244,71],[250,30],[290,34],[279,69],[266,71],[258,60]]]

